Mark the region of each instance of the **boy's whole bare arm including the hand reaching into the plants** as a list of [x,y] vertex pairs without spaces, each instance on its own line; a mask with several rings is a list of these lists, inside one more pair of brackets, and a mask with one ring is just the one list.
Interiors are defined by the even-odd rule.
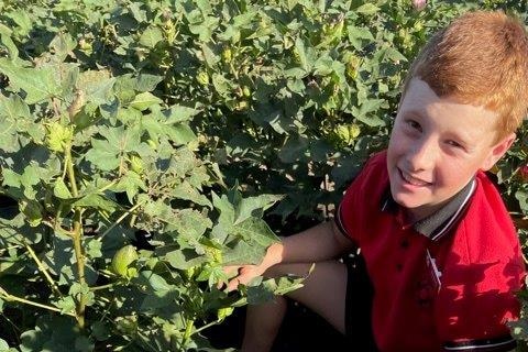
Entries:
[[228,283],[228,290],[239,284],[248,284],[263,275],[270,267],[280,263],[314,263],[333,258],[354,248],[354,242],[345,238],[336,222],[328,221],[297,234],[282,238],[272,244],[258,265],[238,265],[227,267],[227,272],[238,271],[238,275]]

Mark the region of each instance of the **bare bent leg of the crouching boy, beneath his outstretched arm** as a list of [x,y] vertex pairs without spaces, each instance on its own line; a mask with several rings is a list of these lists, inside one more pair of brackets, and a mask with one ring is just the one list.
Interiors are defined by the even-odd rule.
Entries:
[[[265,276],[276,277],[286,274],[306,276],[311,264],[279,264],[271,267]],[[304,282],[304,287],[288,296],[332,324],[341,333],[345,332],[344,308],[346,295],[346,266],[337,261],[316,263]],[[249,306],[242,351],[270,351],[286,311],[283,297],[276,297],[261,306]]]

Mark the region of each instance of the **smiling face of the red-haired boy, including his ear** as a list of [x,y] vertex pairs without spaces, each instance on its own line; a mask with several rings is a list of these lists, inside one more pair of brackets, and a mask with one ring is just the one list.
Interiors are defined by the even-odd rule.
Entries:
[[387,151],[393,198],[411,219],[435,212],[504,155],[515,134],[495,142],[496,119],[495,112],[440,98],[427,82],[411,79]]

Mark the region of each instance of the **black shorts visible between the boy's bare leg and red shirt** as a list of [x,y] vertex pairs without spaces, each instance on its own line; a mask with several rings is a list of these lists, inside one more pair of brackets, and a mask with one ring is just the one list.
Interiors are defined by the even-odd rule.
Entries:
[[377,351],[372,332],[372,299],[374,289],[360,254],[344,258],[346,264],[345,334],[354,351]]

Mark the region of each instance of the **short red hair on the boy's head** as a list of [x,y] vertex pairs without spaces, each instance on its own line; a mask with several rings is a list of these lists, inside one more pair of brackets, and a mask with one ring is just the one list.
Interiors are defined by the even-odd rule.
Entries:
[[528,110],[528,37],[504,12],[468,12],[435,34],[416,58],[411,78],[439,97],[498,114],[497,140],[515,132]]

